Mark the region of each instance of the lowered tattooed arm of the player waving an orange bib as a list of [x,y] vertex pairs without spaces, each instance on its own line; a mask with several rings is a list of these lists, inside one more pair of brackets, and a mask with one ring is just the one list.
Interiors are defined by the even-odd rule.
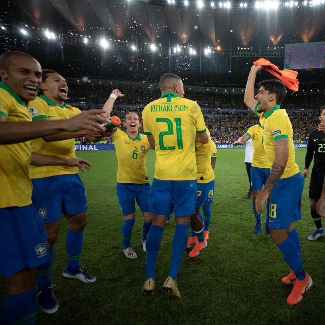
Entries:
[[287,165],[289,158],[289,141],[287,138],[280,138],[274,142],[275,158],[271,168],[271,173],[261,194],[255,200],[255,210],[257,213],[264,212],[263,205],[270,192],[278,183]]

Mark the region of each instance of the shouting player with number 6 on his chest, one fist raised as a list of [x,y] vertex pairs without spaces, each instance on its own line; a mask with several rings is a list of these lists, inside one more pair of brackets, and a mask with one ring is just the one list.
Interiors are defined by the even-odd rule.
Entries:
[[[124,95],[118,89],[113,90],[103,108],[102,116],[109,117],[117,97]],[[146,251],[147,236],[151,227],[151,215],[148,208],[149,180],[146,169],[147,154],[150,149],[148,137],[139,133],[139,116],[134,112],[125,115],[123,125],[126,132],[116,128],[111,135],[114,140],[117,158],[116,192],[124,216],[122,226],[123,253],[127,258],[136,258],[131,247],[132,228],[135,223],[135,200],[143,213],[142,247]]]

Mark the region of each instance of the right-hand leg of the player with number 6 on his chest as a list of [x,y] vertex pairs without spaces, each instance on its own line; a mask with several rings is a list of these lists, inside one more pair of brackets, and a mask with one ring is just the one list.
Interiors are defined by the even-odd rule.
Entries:
[[137,196],[136,196],[136,203],[140,207],[140,210],[143,214],[143,224],[142,224],[142,248],[143,251],[146,252],[146,241],[149,234],[149,230],[152,224],[152,216],[149,213],[149,206],[148,206],[148,196],[150,190],[150,184],[139,184],[137,186]]

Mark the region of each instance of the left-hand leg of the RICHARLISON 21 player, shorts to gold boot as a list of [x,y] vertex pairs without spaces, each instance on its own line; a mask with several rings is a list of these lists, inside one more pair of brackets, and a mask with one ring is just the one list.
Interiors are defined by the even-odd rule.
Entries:
[[155,285],[155,267],[160,248],[162,233],[165,229],[167,215],[173,210],[172,182],[153,179],[149,190],[149,211],[152,225],[146,243],[146,278],[142,288],[143,294],[152,294]]

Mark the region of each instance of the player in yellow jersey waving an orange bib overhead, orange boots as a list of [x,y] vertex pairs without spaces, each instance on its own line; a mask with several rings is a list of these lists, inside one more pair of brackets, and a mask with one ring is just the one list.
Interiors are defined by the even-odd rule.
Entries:
[[264,119],[264,149],[271,168],[261,194],[255,199],[255,209],[256,212],[264,212],[263,205],[271,194],[270,236],[291,268],[282,282],[294,283],[287,298],[287,303],[294,305],[302,300],[313,284],[311,277],[305,273],[300,238],[293,224],[301,219],[304,178],[295,163],[290,119],[280,108],[286,95],[284,84],[278,79],[264,80],[259,83],[258,94],[254,96],[256,74],[261,69],[261,66],[253,65],[245,89],[245,104]]

